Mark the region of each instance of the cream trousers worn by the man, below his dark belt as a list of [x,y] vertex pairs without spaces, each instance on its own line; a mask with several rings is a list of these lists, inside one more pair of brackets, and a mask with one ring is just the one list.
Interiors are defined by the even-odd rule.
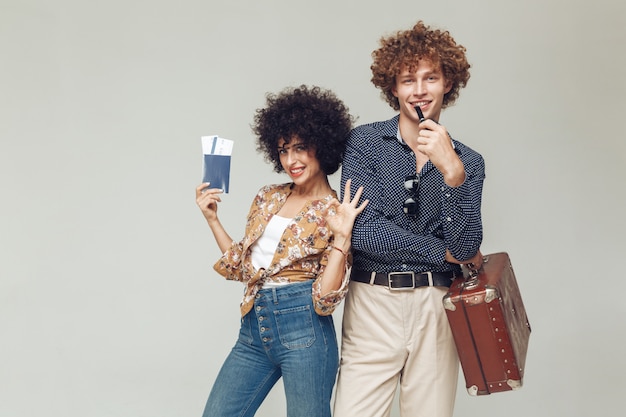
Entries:
[[459,359],[442,305],[447,288],[390,291],[351,282],[334,417],[451,417]]

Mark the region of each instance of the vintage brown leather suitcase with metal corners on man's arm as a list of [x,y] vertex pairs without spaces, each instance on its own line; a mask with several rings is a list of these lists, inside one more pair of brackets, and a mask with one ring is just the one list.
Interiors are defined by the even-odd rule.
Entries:
[[463,266],[443,298],[470,395],[521,388],[530,324],[509,255],[484,256],[479,271]]

